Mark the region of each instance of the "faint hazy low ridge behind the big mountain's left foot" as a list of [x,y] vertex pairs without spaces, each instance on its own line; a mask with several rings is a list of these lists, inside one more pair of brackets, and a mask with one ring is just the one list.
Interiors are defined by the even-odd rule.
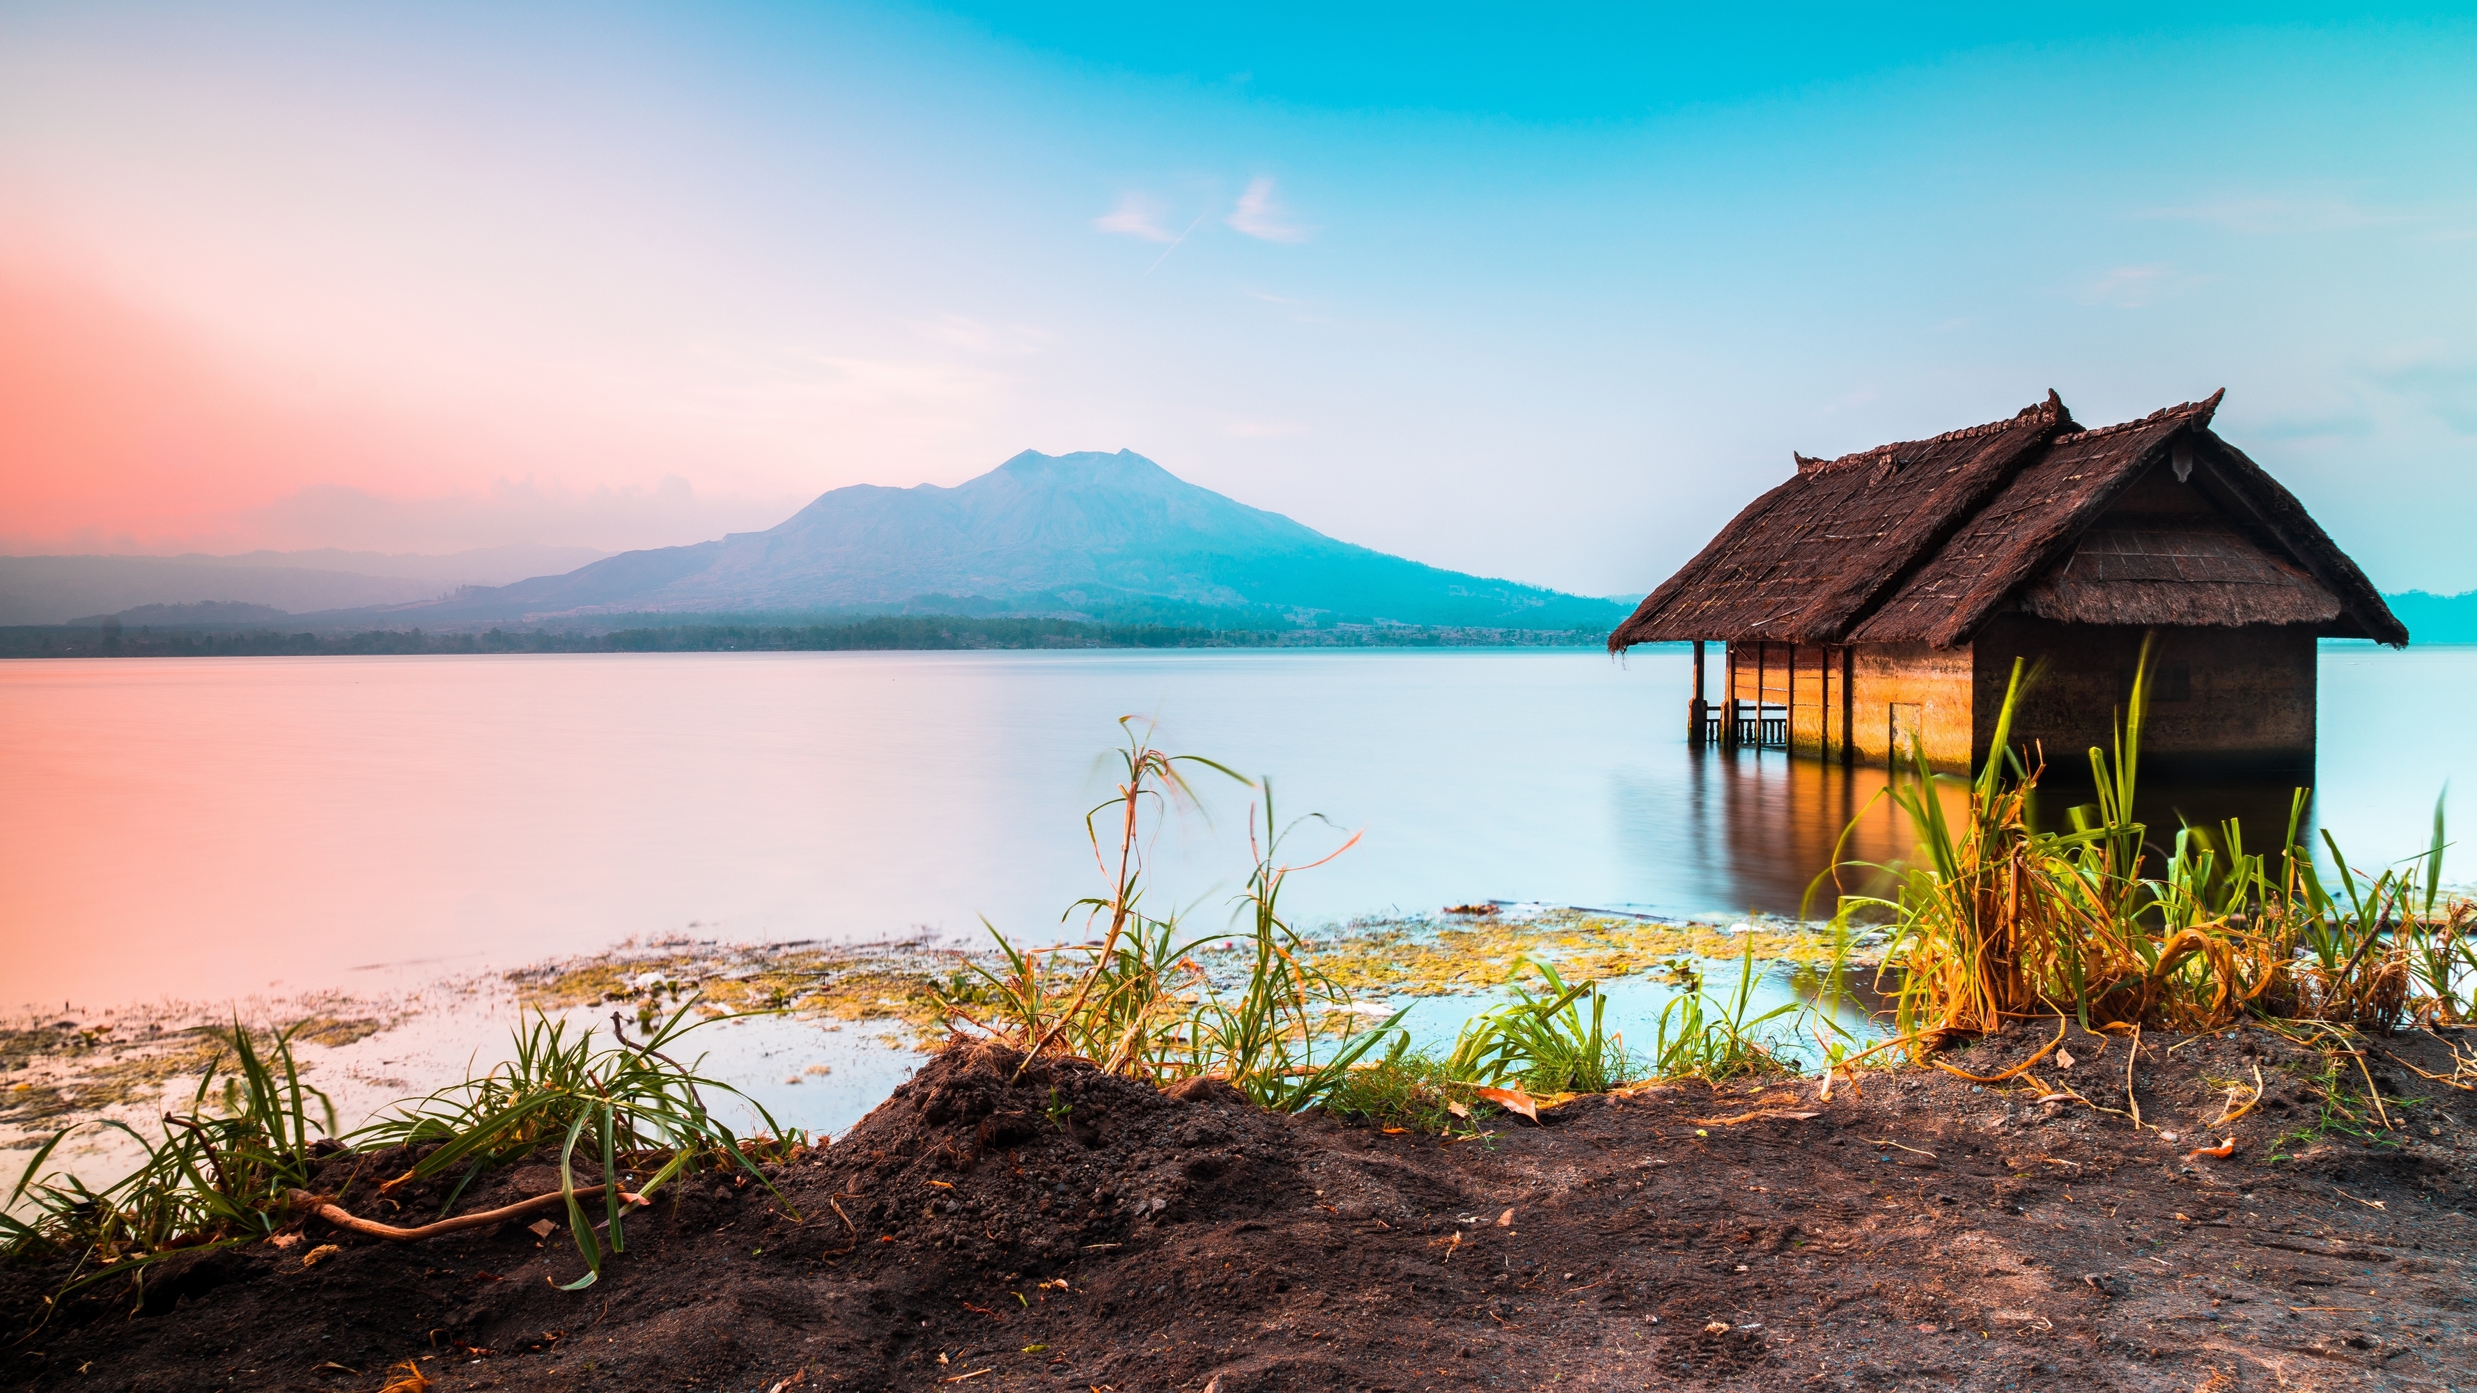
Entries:
[[62,625],[139,605],[238,602],[354,610],[436,600],[585,565],[594,548],[503,545],[453,555],[253,550],[245,555],[0,555],[0,625]]

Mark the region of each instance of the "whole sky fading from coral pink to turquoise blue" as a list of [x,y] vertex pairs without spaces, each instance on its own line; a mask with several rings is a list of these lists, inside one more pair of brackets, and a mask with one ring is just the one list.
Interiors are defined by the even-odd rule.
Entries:
[[1134,449],[1640,595],[1791,471],[2224,387],[2477,587],[2477,22],[0,0],[0,550],[674,545]]

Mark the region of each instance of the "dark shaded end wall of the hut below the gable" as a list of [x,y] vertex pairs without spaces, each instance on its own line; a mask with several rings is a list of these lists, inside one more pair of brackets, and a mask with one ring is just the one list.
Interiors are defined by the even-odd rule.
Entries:
[[[2143,768],[2276,773],[2314,768],[2314,632],[2306,625],[2155,630]],[[2001,615],[1972,642],[1972,758],[1994,744],[2016,657],[2044,662],[2014,711],[2014,744],[2039,741],[2051,766],[2083,771],[2113,751],[2115,711],[2133,694],[2143,630]]]

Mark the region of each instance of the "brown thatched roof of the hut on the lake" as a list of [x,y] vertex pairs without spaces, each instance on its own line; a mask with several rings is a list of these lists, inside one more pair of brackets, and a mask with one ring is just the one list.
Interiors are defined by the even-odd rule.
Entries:
[[[2083,429],[2063,402],[1840,459],[1746,506],[1608,637],[1930,642],[2021,610],[2083,625],[2408,630],[2304,506],[2187,402]],[[2138,486],[2175,478],[2195,491]],[[2153,511],[2155,506],[2165,511]]]

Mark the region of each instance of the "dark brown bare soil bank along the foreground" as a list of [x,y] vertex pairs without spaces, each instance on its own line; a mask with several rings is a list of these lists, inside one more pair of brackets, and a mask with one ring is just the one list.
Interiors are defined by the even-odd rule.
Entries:
[[[2068,1048],[2041,1076],[2123,1105],[2130,1046]],[[2314,1130],[2326,1061],[2262,1031],[2143,1046],[2135,1101],[2177,1143],[1912,1071],[1828,1103],[1665,1086],[1447,1145],[1080,1063],[1011,1083],[1011,1056],[954,1048],[778,1167],[783,1200],[681,1185],[585,1291],[552,1286],[582,1272],[562,1232],[310,1222],[159,1269],[144,1314],[64,1304],[0,1386],[377,1391],[406,1358],[441,1391],[2465,1386],[2477,1096],[2385,1051],[2452,1073],[2435,1036],[2375,1041],[2373,1078],[2415,1098],[2383,1145],[2279,1140]],[[2257,1063],[2237,1153],[2187,1160]],[[342,1155],[329,1185],[359,1175],[347,1202],[396,1219],[372,1195],[396,1162]],[[339,1252],[305,1267],[317,1244]],[[0,1269],[0,1319],[25,1329],[57,1281]]]

